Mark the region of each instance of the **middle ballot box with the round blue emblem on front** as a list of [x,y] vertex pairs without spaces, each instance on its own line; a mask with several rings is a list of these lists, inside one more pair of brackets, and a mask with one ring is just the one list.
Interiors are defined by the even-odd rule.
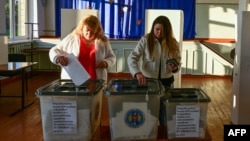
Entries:
[[148,79],[111,80],[105,89],[108,99],[111,140],[156,140],[162,86]]

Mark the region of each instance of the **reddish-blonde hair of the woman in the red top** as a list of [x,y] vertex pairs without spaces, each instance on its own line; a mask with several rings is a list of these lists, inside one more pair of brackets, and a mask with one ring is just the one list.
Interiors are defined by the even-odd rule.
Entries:
[[108,42],[108,38],[105,36],[102,29],[101,22],[96,16],[93,15],[88,15],[87,17],[81,19],[72,34],[82,35],[84,25],[88,26],[95,33],[95,38],[102,40],[104,43]]

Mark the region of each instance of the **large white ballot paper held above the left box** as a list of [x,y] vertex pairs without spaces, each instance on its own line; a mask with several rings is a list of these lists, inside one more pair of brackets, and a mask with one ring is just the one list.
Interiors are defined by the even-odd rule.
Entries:
[[76,86],[80,86],[90,78],[90,75],[73,54],[68,54],[67,57],[69,64],[67,66],[63,66],[63,68],[69,74],[73,83]]

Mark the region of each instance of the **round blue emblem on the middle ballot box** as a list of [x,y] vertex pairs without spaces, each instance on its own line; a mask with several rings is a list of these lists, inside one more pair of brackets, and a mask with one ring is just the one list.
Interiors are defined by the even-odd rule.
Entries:
[[145,115],[139,109],[131,109],[125,114],[125,123],[129,127],[138,128],[143,125]]

